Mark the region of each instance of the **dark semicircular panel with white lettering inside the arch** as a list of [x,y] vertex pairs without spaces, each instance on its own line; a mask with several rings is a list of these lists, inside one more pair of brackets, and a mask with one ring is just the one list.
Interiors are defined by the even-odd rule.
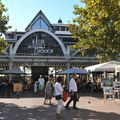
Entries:
[[17,49],[17,54],[63,56],[59,43],[51,35],[36,32],[26,37]]

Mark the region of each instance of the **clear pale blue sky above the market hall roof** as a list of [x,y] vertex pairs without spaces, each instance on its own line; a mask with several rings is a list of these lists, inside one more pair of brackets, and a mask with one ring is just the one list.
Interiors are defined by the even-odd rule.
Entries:
[[83,6],[80,0],[2,0],[8,8],[9,31],[24,31],[27,25],[42,10],[51,23],[57,23],[61,18],[63,23],[68,23],[75,18],[73,6]]

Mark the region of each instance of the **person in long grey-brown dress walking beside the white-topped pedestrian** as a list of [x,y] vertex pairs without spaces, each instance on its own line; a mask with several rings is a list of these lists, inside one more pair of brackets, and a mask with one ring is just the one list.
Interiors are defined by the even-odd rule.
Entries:
[[45,100],[44,100],[44,104],[47,104],[47,100],[49,100],[49,104],[51,105],[51,99],[52,99],[52,81],[51,79],[49,78],[47,83],[46,83],[46,86],[45,86]]

